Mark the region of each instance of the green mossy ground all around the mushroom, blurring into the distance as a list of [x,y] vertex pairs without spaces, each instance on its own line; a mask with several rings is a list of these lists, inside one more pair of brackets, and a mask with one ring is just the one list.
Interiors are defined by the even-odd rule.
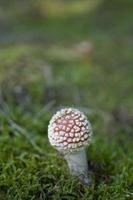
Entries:
[[[51,2],[1,1],[0,200],[131,200],[133,3]],[[92,123],[90,188],[48,143],[61,106]]]

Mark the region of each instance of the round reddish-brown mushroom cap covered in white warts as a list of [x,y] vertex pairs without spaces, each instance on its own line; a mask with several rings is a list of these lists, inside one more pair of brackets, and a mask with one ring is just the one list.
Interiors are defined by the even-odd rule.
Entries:
[[90,144],[91,124],[77,109],[58,111],[50,120],[48,138],[52,146],[62,153],[79,151]]

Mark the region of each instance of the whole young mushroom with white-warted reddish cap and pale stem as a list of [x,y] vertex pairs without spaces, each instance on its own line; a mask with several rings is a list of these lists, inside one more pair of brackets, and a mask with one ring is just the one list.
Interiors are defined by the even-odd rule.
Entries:
[[91,185],[85,147],[90,144],[92,128],[87,117],[77,109],[64,108],[53,115],[48,126],[50,144],[64,155],[70,173],[84,185]]

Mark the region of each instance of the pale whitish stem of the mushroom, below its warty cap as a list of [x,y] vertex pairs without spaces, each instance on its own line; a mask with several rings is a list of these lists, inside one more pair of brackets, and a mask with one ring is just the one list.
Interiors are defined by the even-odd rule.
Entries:
[[88,163],[85,149],[66,154],[65,159],[68,163],[70,173],[78,176],[84,185],[90,186],[92,180],[88,175]]

